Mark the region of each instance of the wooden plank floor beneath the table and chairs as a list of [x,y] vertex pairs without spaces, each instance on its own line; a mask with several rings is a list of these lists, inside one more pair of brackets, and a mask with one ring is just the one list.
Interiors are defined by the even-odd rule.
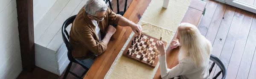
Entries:
[[[116,0],[112,2],[113,8],[116,4],[114,1]],[[131,1],[128,0],[128,5]],[[212,42],[212,54],[219,57],[227,67],[226,79],[255,79],[256,14],[214,0],[204,1],[207,2],[206,12],[201,18],[198,29]],[[124,0],[119,0],[119,4],[121,8]],[[80,65],[74,63],[71,70],[79,75],[85,71]],[[218,71],[219,68],[213,69],[210,77]],[[22,71],[17,79],[57,79],[62,78],[63,75],[64,73],[58,77],[41,68],[36,68],[33,73]],[[70,73],[67,78],[76,79]]]

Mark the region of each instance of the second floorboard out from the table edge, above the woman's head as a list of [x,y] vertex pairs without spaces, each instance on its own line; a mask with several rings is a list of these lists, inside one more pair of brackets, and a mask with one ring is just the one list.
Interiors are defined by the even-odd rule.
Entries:
[[227,5],[224,3],[218,3],[216,11],[212,17],[212,21],[209,25],[209,29],[206,34],[207,40],[209,40],[212,44],[214,43],[215,37],[217,35],[218,29],[221,25],[222,18],[224,17],[224,13],[226,11]]

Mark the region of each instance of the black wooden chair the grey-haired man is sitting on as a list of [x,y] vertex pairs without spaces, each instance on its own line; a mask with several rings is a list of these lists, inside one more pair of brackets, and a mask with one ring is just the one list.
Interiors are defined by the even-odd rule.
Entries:
[[[76,77],[79,78],[79,79],[83,79],[82,76],[84,76],[84,74],[87,73],[87,71],[89,70],[89,68],[87,68],[87,67],[85,67],[84,65],[82,65],[81,63],[77,62],[77,61],[73,58],[73,56],[72,56],[72,49],[73,49],[73,48],[72,48],[72,46],[71,46],[71,44],[70,44],[70,42],[69,42],[69,40],[68,40],[68,39],[69,39],[69,34],[68,34],[66,28],[67,28],[68,25],[70,25],[71,23],[73,23],[73,21],[75,20],[75,18],[76,18],[76,15],[74,15],[74,16],[72,16],[72,17],[69,17],[69,18],[63,23],[62,28],[61,28],[62,39],[63,39],[63,41],[64,41],[64,43],[66,44],[66,47],[67,47],[67,57],[68,57],[68,59],[70,60],[70,63],[68,64],[67,69],[66,69],[66,71],[65,71],[65,73],[64,73],[63,79],[66,79],[68,73],[71,73],[72,75],[76,76]],[[67,36],[67,37],[66,37],[66,36]],[[81,76],[78,76],[77,74],[75,74],[75,73],[73,73],[73,72],[70,71],[70,68],[71,68],[71,65],[72,65],[73,62],[75,62],[75,63],[81,65],[81,66],[85,69],[84,73],[83,73]]]

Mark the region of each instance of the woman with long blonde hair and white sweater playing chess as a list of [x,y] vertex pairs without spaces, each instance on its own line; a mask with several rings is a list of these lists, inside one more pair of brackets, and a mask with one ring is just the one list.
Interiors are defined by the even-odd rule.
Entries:
[[177,29],[177,39],[172,40],[171,48],[180,46],[178,54],[178,65],[168,69],[166,65],[166,51],[162,41],[157,42],[157,49],[160,51],[160,73],[163,79],[208,79],[208,62],[212,45],[202,36],[195,27],[189,23],[181,23]]

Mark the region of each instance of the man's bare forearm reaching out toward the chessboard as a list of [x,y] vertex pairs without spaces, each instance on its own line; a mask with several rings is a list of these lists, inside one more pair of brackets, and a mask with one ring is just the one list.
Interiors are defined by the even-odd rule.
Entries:
[[126,19],[125,17],[120,17],[118,24],[120,26],[131,26],[134,25],[135,23],[131,22],[130,20]]

